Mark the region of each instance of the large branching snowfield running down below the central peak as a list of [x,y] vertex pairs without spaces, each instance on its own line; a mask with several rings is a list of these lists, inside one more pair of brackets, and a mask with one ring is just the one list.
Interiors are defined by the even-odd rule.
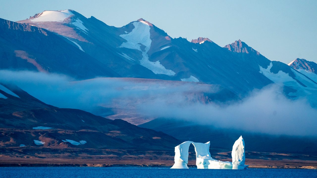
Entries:
[[[147,22],[139,21],[133,22],[134,29],[127,34],[120,35],[127,42],[123,42],[119,48],[137,49],[142,52],[142,59],[140,65],[150,69],[155,74],[175,75],[172,70],[166,69],[159,60],[156,62],[149,61],[147,52],[151,48],[152,40],[150,38],[150,26]],[[141,44],[145,46],[145,51],[141,50]]]

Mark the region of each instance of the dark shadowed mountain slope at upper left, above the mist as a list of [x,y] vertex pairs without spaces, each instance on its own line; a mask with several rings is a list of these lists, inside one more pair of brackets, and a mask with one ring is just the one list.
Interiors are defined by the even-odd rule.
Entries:
[[119,76],[46,29],[0,19],[0,32],[1,69],[62,73],[79,79]]

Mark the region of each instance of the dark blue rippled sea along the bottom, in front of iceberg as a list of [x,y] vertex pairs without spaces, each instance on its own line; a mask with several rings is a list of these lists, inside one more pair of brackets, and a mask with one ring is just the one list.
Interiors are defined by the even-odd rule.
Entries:
[[169,169],[169,168],[92,168],[92,167],[0,167],[1,178],[168,178],[168,177],[317,177],[317,170],[309,169]]

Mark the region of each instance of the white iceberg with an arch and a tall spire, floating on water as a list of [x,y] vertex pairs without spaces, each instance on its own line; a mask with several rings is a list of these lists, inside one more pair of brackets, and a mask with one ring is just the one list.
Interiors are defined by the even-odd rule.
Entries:
[[210,142],[195,143],[186,141],[175,147],[175,164],[173,169],[188,169],[188,149],[190,144],[193,144],[196,152],[196,165],[198,169],[245,169],[244,140],[242,136],[233,144],[232,147],[232,162],[223,162],[212,159],[209,152]]

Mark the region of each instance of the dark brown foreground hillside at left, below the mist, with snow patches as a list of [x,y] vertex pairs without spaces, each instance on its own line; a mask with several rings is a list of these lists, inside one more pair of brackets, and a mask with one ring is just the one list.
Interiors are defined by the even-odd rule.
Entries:
[[0,147],[171,149],[179,141],[126,121],[47,105],[16,86],[0,85]]

